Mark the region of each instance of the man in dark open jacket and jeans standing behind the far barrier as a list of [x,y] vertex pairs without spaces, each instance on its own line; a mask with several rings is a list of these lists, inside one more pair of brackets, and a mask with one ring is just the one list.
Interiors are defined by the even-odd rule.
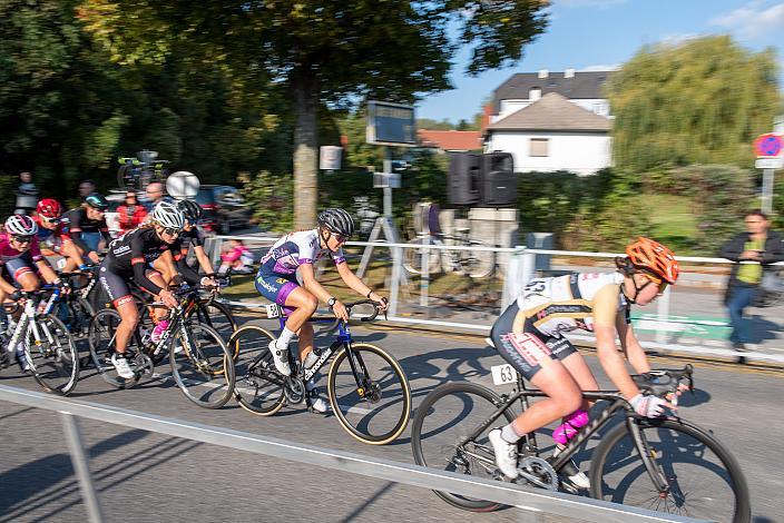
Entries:
[[770,270],[771,264],[784,260],[782,235],[768,230],[771,221],[765,213],[752,210],[746,215],[745,224],[746,231],[727,241],[719,254],[723,258],[736,262],[729,274],[724,304],[729,309],[733,326],[729,341],[737,351],[745,351],[745,344],[751,337],[743,309],[754,302],[763,272]]

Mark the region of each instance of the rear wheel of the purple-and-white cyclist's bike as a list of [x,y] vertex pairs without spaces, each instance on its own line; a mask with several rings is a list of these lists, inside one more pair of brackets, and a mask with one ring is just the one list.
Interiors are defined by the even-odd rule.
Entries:
[[239,347],[234,395],[241,407],[259,416],[272,416],[285,404],[283,377],[275,371],[268,348],[273,339],[257,325],[243,325],[228,342],[229,347]]

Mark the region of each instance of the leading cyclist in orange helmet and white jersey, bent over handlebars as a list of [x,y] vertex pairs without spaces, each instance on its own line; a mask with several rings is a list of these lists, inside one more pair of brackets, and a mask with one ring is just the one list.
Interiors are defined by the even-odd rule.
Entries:
[[[626,369],[621,349],[637,373],[650,371],[648,358],[631,330],[629,306],[648,305],[678,279],[678,263],[664,245],[638,238],[616,258],[617,272],[580,273],[530,280],[517,300],[492,326],[490,336],[501,356],[547,397],[531,405],[509,425],[493,428],[488,438],[496,463],[510,477],[518,476],[517,442],[526,434],[562,420],[553,431],[556,454],[588,423],[590,405],[581,391],[598,391],[596,378],[564,333],[576,329],[596,334],[596,352],[607,376],[646,417],[673,408],[657,396],[644,396]],[[590,483],[574,463],[561,471],[571,483]]]

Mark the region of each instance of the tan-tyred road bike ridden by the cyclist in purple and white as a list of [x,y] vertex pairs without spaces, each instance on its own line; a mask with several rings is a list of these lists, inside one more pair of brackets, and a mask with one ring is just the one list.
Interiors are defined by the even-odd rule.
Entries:
[[[362,317],[362,322],[371,322],[379,315],[380,305],[370,299],[345,304],[345,307],[351,314],[352,308],[360,305],[373,306],[372,314]],[[277,305],[267,306],[267,316],[280,318],[281,329],[285,325],[285,313]],[[259,416],[272,416],[287,403],[304,403],[305,383],[334,355],[327,391],[341,426],[371,445],[384,445],[396,438],[411,416],[411,388],[398,361],[381,347],[354,343],[347,323],[334,317],[314,317],[311,322],[330,322],[333,324],[330,330],[336,328],[337,333],[325,349],[314,347],[318,358],[311,367],[304,368],[295,357],[297,351],[292,348],[291,376],[283,376],[275,368],[268,349],[275,336],[270,330],[246,324],[234,333],[229,346],[239,346],[235,388],[239,405]]]

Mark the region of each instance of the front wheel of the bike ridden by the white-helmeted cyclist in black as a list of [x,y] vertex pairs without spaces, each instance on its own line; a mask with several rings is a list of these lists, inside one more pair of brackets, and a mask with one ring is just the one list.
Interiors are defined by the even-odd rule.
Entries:
[[169,346],[171,375],[185,397],[220,408],[234,394],[234,361],[220,335],[206,325],[180,325]]

